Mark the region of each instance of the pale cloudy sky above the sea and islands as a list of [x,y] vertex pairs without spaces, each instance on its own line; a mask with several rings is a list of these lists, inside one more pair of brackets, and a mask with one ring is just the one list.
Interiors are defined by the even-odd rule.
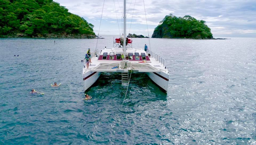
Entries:
[[[54,0],[93,24],[96,35],[122,34],[123,0]],[[166,15],[206,21],[214,38],[256,37],[256,0],[126,0],[126,33],[150,36]],[[103,7],[104,5],[104,7]],[[103,13],[102,13],[103,8]],[[145,16],[146,11],[146,16]],[[102,21],[100,19],[102,15]],[[146,21],[147,17],[147,21]]]

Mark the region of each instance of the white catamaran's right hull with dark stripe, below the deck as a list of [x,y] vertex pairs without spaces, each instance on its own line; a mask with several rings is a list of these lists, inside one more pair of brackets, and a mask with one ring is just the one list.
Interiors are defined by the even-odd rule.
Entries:
[[146,72],[148,77],[160,86],[163,90],[167,91],[169,83],[169,74],[165,72]]

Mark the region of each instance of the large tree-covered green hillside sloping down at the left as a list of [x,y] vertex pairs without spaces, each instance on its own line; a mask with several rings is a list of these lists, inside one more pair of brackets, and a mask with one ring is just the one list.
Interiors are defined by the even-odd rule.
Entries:
[[95,37],[93,27],[52,0],[0,0],[0,36]]

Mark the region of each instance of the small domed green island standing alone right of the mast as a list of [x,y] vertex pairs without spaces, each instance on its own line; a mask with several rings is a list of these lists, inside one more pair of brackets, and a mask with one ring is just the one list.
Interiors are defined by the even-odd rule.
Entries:
[[205,23],[191,16],[181,18],[169,14],[155,28],[152,38],[211,39],[211,29]]

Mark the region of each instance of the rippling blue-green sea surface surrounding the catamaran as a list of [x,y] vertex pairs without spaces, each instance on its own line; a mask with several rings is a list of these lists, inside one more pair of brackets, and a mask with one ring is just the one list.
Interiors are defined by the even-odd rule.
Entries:
[[0,144],[256,144],[256,38],[133,38],[166,59],[167,93],[133,73],[124,100],[103,73],[85,101],[81,60],[102,37],[0,39]]

